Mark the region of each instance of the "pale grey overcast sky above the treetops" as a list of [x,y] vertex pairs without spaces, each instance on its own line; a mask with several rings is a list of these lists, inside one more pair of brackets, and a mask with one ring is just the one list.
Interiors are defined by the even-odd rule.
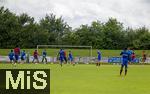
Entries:
[[16,14],[28,13],[38,21],[46,14],[62,16],[72,27],[117,18],[124,26],[150,28],[150,0],[0,0]]

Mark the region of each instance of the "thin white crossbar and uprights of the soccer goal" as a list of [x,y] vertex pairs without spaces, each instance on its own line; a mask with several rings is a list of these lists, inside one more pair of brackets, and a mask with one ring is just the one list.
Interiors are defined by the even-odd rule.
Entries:
[[66,48],[90,48],[90,57],[92,58],[92,46],[72,46],[72,45],[37,45],[37,51],[39,47],[66,47]]

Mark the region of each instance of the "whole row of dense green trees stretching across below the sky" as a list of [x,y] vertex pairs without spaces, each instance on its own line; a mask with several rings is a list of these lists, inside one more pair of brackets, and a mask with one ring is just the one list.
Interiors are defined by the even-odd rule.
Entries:
[[146,27],[125,28],[115,18],[93,21],[72,29],[62,17],[47,14],[38,22],[26,13],[16,15],[0,7],[0,48],[35,48],[36,45],[90,45],[96,49],[150,49]]

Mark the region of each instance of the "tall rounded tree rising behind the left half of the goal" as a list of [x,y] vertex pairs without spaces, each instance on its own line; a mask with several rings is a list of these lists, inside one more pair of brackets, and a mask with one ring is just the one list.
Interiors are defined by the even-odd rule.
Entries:
[[60,18],[56,18],[54,14],[46,15],[40,20],[40,26],[44,31],[49,32],[49,44],[61,44],[62,36],[65,31],[70,30],[69,25]]

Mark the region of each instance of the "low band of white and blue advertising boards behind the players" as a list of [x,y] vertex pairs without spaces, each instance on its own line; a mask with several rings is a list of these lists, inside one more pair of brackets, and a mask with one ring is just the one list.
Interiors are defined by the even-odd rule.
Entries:
[[[32,62],[33,60],[33,56],[29,57],[29,61]],[[20,61],[20,59],[19,59]],[[39,57],[39,61],[42,61],[42,56]],[[50,57],[47,56],[47,61],[48,62],[53,62],[53,63],[57,63],[59,62],[59,60],[57,59],[57,57]],[[121,57],[102,57],[101,62],[103,63],[121,63],[122,58]],[[0,56],[0,62],[9,62],[9,57],[8,56]],[[97,58],[96,57],[75,57],[74,58],[74,62],[76,63],[84,63],[84,64],[88,64],[88,63],[96,63],[97,62]],[[141,58],[135,58],[132,62],[134,63],[139,63],[141,62]],[[150,58],[147,58],[145,63],[150,63]]]

